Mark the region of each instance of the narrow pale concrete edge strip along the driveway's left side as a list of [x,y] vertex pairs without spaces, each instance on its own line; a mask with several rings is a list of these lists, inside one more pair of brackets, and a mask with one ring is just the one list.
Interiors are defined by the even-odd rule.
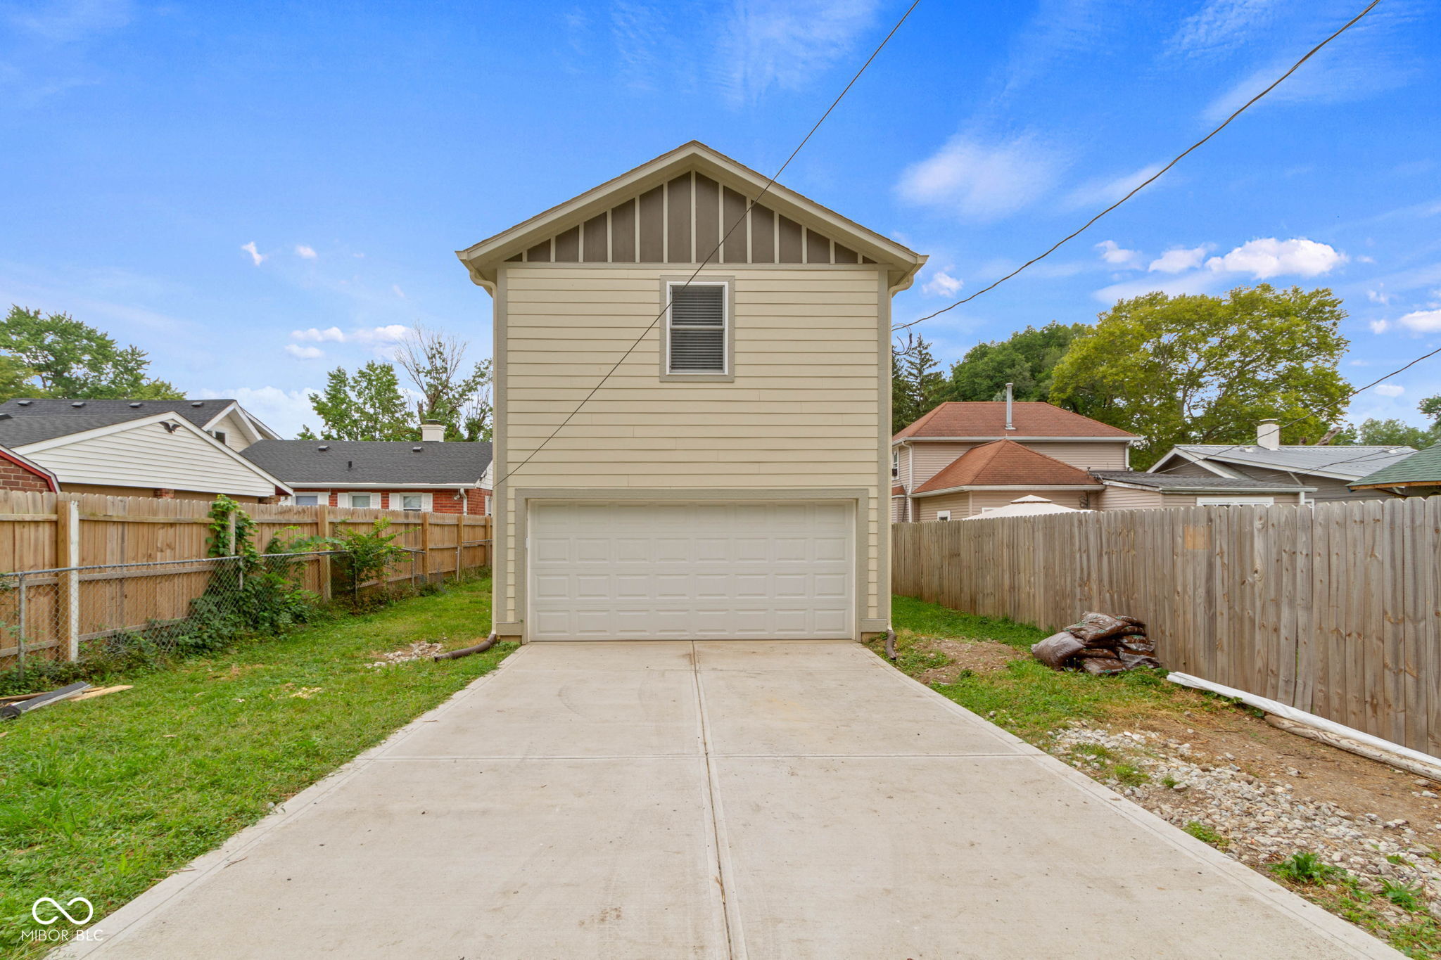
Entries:
[[525,653],[525,649],[526,648],[522,646],[514,651],[510,656],[503,659],[496,669],[490,671],[484,676],[477,676],[470,684],[465,684],[465,687],[447,697],[440,705],[425,711],[376,746],[357,754],[352,760],[347,760],[284,803],[277,805],[274,810],[238,833],[233,833],[213,851],[202,853],[184,866],[179,868],[176,872],[159,881],[154,887],[150,887],[143,894],[120,907],[115,913],[107,914],[97,923],[91,924],[88,930],[102,930],[104,940],[72,941],[52,950],[46,954],[46,957],[49,960],[72,960],[73,957],[86,957],[104,950],[112,940],[118,940],[120,937],[133,933],[164,904],[170,902],[190,888],[205,884],[219,871],[225,869],[235,861],[242,859],[245,852],[261,842],[265,836],[284,826],[295,816],[300,816],[305,807],[314,806],[337,790],[365,767],[375,763],[385,750],[403,741],[406,737],[419,730],[422,724],[434,720],[437,714],[454,710],[458,704],[484,687],[487,681],[499,675],[500,671],[506,669],[513,659]]

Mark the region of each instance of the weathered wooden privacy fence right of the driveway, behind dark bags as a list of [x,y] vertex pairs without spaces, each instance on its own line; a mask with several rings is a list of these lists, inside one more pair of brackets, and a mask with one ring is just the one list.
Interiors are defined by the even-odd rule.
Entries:
[[895,593],[1146,620],[1174,671],[1441,756],[1441,497],[895,524]]

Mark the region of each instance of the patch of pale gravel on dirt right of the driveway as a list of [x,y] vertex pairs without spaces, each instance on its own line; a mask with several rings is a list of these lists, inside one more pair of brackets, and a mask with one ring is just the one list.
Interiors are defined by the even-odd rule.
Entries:
[[[1406,820],[1304,800],[1295,796],[1294,784],[1252,776],[1229,753],[1208,756],[1189,743],[1148,731],[1112,733],[1074,721],[1052,731],[1052,737],[1050,753],[1056,757],[1179,828],[1193,822],[1210,828],[1229,841],[1225,853],[1248,866],[1270,872],[1270,865],[1310,851],[1350,871],[1370,892],[1380,891],[1382,879],[1419,885],[1431,913],[1441,917],[1441,862],[1432,859],[1434,852]],[[1097,757],[1097,747],[1111,756]],[[1141,777],[1125,770],[1118,779],[1117,763],[1144,774],[1144,782],[1137,783]],[[1288,773],[1300,776],[1294,769]],[[1417,784],[1425,787],[1429,782]],[[1405,911],[1383,898],[1373,902],[1376,910],[1405,921]]]

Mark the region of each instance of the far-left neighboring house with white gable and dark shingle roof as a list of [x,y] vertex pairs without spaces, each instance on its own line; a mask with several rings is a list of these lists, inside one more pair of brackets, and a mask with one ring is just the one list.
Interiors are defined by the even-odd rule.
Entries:
[[290,494],[203,426],[235,410],[223,400],[10,400],[0,404],[0,445],[66,494],[242,502]]

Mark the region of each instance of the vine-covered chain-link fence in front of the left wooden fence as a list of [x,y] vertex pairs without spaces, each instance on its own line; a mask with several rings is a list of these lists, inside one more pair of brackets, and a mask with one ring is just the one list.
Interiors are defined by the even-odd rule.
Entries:
[[[219,649],[314,613],[344,551],[52,567],[0,574],[0,669],[114,664]],[[391,580],[419,576],[418,551]],[[409,576],[406,576],[409,567]],[[388,583],[389,583],[388,581]]]

